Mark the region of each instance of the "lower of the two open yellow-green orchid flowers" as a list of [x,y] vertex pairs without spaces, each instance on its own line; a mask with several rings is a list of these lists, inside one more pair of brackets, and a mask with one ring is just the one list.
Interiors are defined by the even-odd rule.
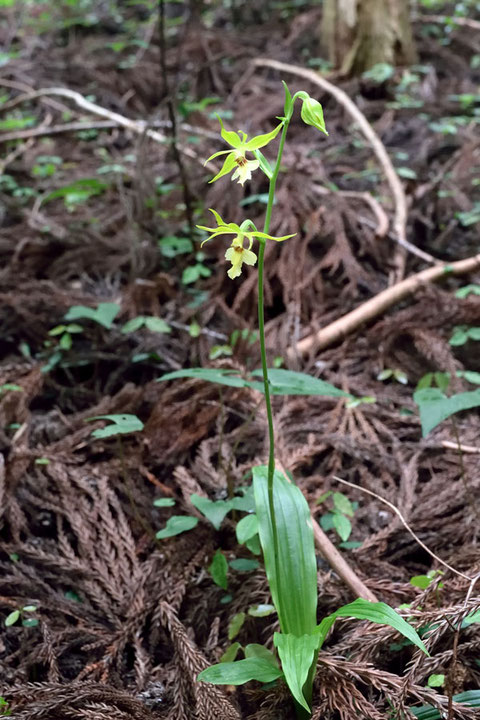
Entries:
[[[237,223],[226,223],[215,210],[210,209],[210,212],[213,213],[217,221],[217,227],[209,228],[205,225],[197,225],[199,230],[206,230],[210,235],[202,242],[202,245],[208,240],[217,237],[217,235],[235,235],[230,247],[225,253],[226,259],[232,263],[232,267],[227,272],[228,277],[232,278],[232,280],[242,272],[243,263],[245,263],[245,265],[255,265],[257,256],[252,250],[254,238],[281,242],[282,240],[288,240],[288,238],[293,237],[293,235],[274,237],[273,235],[260,232],[251,220],[244,220],[241,225],[237,225]],[[253,228],[253,230],[247,230],[248,227]],[[248,241],[248,247],[244,247],[245,239]]]

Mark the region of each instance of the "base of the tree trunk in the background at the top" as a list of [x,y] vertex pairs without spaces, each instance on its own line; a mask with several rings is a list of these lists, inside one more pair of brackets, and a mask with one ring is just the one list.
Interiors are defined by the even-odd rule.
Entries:
[[328,59],[344,74],[416,61],[408,0],[325,0],[321,37]]

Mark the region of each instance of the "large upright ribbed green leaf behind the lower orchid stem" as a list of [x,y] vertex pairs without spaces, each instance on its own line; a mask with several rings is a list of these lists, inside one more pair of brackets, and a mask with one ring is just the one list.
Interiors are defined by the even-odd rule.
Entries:
[[281,472],[273,482],[279,563],[274,557],[273,528],[267,492],[267,468],[253,468],[253,487],[262,544],[273,603],[285,634],[310,634],[316,626],[317,563],[312,521],[307,501],[298,487]]

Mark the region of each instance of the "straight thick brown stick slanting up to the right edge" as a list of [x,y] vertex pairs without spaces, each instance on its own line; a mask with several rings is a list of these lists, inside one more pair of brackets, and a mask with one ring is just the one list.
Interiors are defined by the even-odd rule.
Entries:
[[406,280],[393,285],[392,287],[382,290],[374,297],[367,300],[359,307],[355,308],[351,312],[347,313],[343,317],[335,320],[327,327],[322,328],[313,335],[300,340],[295,348],[288,349],[289,357],[297,357],[297,354],[305,355],[312,347],[315,346],[317,350],[324,350],[329,345],[332,345],[339,340],[342,340],[351,332],[356,330],[360,325],[369,320],[372,320],[377,315],[388,310],[389,307],[395,303],[403,300],[407,295],[415,293],[420,288],[424,287],[427,283],[440,280],[443,277],[449,275],[465,275],[472,270],[476,270],[480,267],[480,255],[474,255],[473,257],[466,258],[465,260],[458,260],[457,262],[435,265],[434,267],[422,270],[415,275],[411,275]]

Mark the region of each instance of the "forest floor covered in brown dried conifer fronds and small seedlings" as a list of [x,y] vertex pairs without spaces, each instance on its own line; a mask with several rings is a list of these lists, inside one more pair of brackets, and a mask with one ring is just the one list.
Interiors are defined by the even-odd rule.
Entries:
[[[0,27],[1,44],[18,47],[0,70],[5,707],[19,720],[291,718],[281,685],[224,692],[196,682],[231,645],[232,618],[246,614],[234,638],[242,644],[269,646],[275,629],[272,616],[248,614],[270,601],[261,564],[245,571],[248,563],[237,563],[243,569],[230,569],[227,591],[213,582],[217,549],[229,561],[252,555],[237,544],[232,519],[215,530],[191,502],[192,493],[225,498],[227,485],[242,485],[265,461],[261,396],[195,379],[157,382],[186,367],[259,367],[256,270],[231,281],[222,240],[202,254],[193,248],[170,145],[116,121],[105,126],[108,118],[71,97],[32,95],[68,88],[169,135],[158,28],[148,13],[139,18],[127,6],[123,18],[89,26],[66,22],[66,12],[59,4],[50,19],[26,18],[13,6]],[[471,581],[480,573],[480,418],[458,415],[423,438],[413,400],[427,373],[441,373],[440,384],[450,373],[450,392],[475,388],[458,375],[480,372],[475,333],[463,344],[450,340],[458,327],[480,326],[479,286],[456,295],[480,282],[480,269],[418,283],[323,348],[312,342],[300,351],[299,342],[402,277],[478,252],[480,37],[419,21],[416,66],[383,68],[382,82],[326,76],[354,101],[397,169],[414,246],[405,250],[397,242],[402,193],[394,197],[346,107],[298,75],[322,67],[320,9],[272,11],[268,24],[255,13],[245,3],[233,23],[220,9],[169,21],[187,199],[194,222],[210,224],[213,207],[231,222],[248,212],[260,227],[259,173],[245,189],[228,178],[207,184],[203,162],[224,148],[214,113],[230,129],[268,132],[282,114],[282,79],[322,102],[328,138],[296,115],[279,179],[271,232],[297,236],[267,249],[269,364],[369,400],[348,407],[338,398],[275,397],[278,460],[337,546],[332,496],[317,501],[334,491],[353,503],[343,556],[378,599],[410,605],[407,617],[431,656],[391,629],[339,622],[319,657],[314,718],[413,717],[402,713],[426,703],[446,708],[448,698],[480,687],[478,622],[458,629],[480,604]],[[290,70],[254,64],[258,58]],[[57,131],[64,123],[81,125]],[[35,136],[32,127],[43,131]],[[100,303],[114,305],[98,321]],[[65,319],[72,306],[84,310]],[[139,317],[168,327],[157,322],[152,331],[137,320],[125,328]],[[92,436],[105,423],[86,420],[111,414],[135,415],[143,430]],[[398,508],[452,570],[364,490]],[[175,508],[154,506],[159,498]],[[173,514],[199,522],[157,539]],[[320,556],[318,565],[322,617],[354,595]],[[424,580],[412,584],[415,576]],[[441,687],[428,686],[432,675],[444,676]],[[453,712],[475,717],[459,704]]]

